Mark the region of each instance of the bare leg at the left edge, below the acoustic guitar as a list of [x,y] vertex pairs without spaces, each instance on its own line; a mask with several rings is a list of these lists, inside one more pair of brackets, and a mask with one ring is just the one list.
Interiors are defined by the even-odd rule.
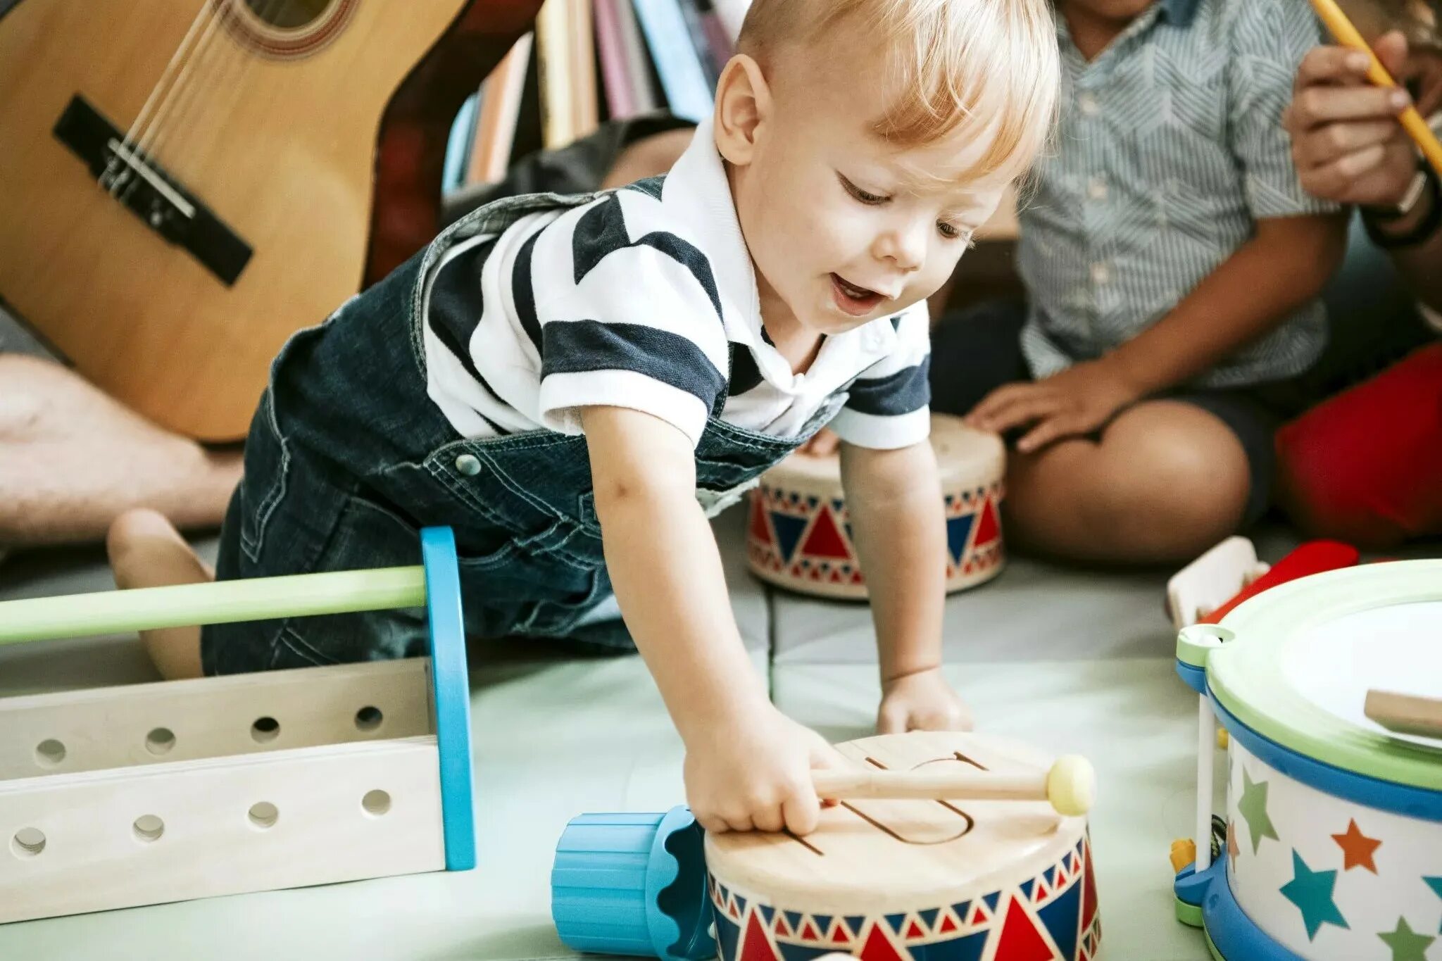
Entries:
[[0,354],[0,546],[99,540],[125,510],[213,527],[238,450],[177,437],[61,365]]

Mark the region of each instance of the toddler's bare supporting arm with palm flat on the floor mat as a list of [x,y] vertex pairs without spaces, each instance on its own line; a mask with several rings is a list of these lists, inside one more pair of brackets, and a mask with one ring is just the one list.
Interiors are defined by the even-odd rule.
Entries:
[[842,444],[841,480],[877,625],[878,728],[969,728],[970,713],[940,676],[946,516],[932,445]]

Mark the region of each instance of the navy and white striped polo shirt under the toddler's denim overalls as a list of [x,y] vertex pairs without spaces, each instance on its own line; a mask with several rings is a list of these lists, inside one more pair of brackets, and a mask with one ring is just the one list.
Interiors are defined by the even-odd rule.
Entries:
[[580,434],[620,406],[699,442],[707,421],[796,437],[836,393],[842,439],[897,448],[930,431],[921,301],[828,336],[793,373],[761,324],[750,254],[711,122],[665,177],[529,213],[451,248],[427,278],[427,390],[463,437]]

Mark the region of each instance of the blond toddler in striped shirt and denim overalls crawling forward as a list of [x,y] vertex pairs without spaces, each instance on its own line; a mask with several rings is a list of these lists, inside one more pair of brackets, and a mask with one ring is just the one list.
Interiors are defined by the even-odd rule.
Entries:
[[[831,422],[884,730],[955,728],[926,297],[1045,138],[1045,0],[757,0],[666,177],[497,200],[283,349],[218,576],[460,550],[467,631],[640,650],[711,830],[806,833],[825,742],[773,707],[705,519]],[[156,514],[123,586],[208,576]],[[623,621],[624,618],[624,621]],[[379,612],[146,635],[169,676],[423,653]]]

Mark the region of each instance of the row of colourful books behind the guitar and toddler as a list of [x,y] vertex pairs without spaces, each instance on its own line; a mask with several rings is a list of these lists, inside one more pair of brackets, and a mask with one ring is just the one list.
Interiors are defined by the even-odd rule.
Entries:
[[[711,112],[750,0],[545,0],[456,118],[446,189],[500,180],[526,137],[545,148],[601,120]],[[538,117],[526,117],[525,108]],[[538,135],[536,135],[538,134]]]

